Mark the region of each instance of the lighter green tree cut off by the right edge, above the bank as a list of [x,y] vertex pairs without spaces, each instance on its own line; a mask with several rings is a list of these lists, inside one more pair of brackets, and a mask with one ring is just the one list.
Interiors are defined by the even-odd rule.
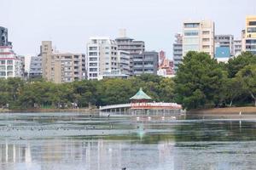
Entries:
[[236,76],[241,81],[242,88],[251,95],[256,106],[256,65],[245,66]]

